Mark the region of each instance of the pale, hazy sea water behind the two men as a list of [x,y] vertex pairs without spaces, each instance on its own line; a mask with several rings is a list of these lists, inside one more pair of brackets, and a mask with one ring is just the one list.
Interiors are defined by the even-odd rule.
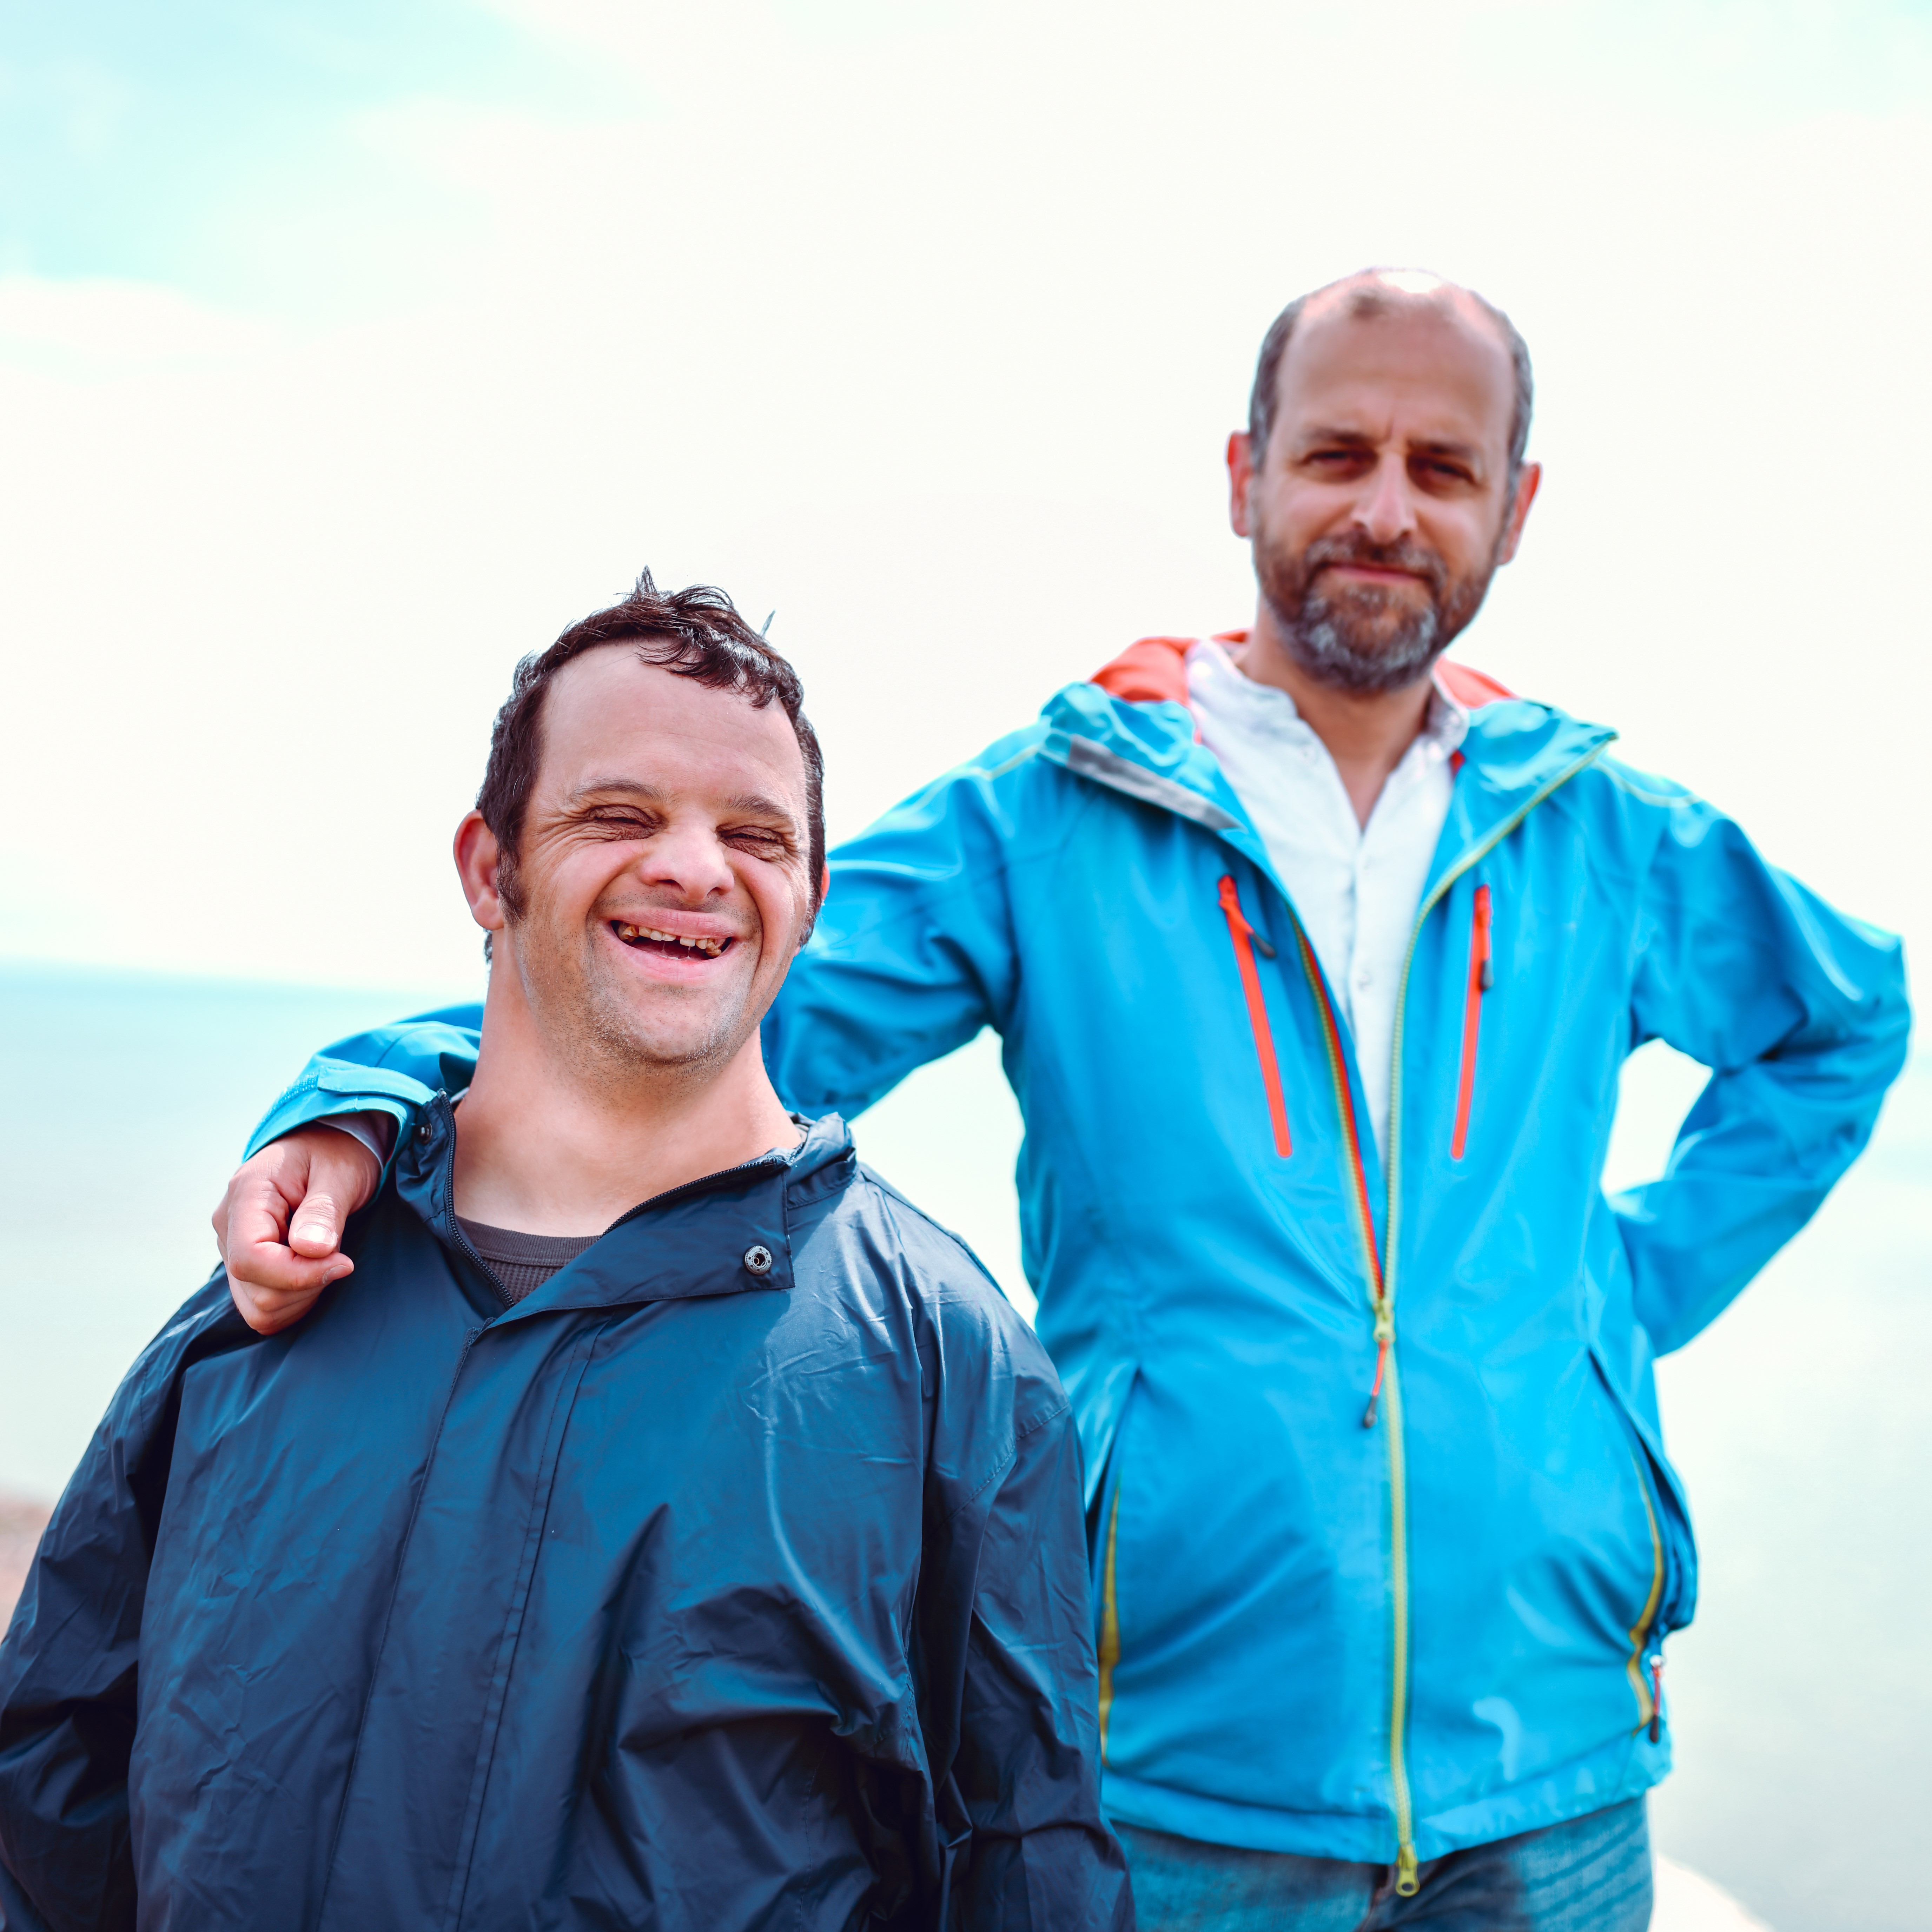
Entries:
[[[0,964],[0,1492],[58,1495],[135,1352],[214,1265],[209,1209],[307,1053],[479,987],[328,991]],[[1702,1072],[1646,1047],[1609,1184],[1662,1171]],[[1012,1095],[987,1036],[856,1126],[1020,1279]],[[1777,1932],[1932,1922],[1932,1063],[1712,1329],[1660,1368],[1702,1548],[1669,1644],[1660,1847]]]

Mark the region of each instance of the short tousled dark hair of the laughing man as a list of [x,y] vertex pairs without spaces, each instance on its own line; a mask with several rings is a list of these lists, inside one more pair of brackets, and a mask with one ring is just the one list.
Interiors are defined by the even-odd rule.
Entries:
[[[504,910],[512,918],[524,914],[516,862],[524,842],[529,792],[543,759],[543,694],[564,665],[605,643],[628,643],[639,663],[692,678],[713,692],[736,692],[759,711],[773,699],[779,701],[792,721],[798,752],[806,761],[806,821],[815,906],[819,881],[825,875],[825,755],[804,713],[806,688],[798,682],[798,672],[746,624],[724,591],[709,583],[659,591],[651,572],[643,570],[636,589],[622,603],[593,611],[572,624],[547,651],[526,657],[516,667],[510,696],[497,713],[477,811],[497,835],[502,852],[498,893]],[[485,956],[489,956],[487,941]]]

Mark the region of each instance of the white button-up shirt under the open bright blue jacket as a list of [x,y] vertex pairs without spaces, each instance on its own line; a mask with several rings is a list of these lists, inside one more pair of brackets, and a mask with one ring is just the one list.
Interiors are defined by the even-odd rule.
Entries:
[[1420,736],[1358,825],[1335,759],[1294,699],[1244,676],[1225,645],[1202,639],[1188,651],[1188,703],[1327,974],[1387,1161],[1395,1001],[1468,713],[1435,686]]

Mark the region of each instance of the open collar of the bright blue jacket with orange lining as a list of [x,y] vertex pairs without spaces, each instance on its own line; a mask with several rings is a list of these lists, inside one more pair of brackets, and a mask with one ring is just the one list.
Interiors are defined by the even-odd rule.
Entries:
[[[1186,707],[1190,643],[1186,638],[1144,638],[1097,678],[1057,692],[1041,713],[1047,726],[1041,752],[1082,779],[1192,819],[1279,887],[1246,808],[1213,753],[1194,738]],[[1553,705],[1513,697],[1478,670],[1453,668],[1457,678],[1449,688],[1470,705],[1470,723],[1424,898],[1617,736],[1605,724],[1586,724]]]

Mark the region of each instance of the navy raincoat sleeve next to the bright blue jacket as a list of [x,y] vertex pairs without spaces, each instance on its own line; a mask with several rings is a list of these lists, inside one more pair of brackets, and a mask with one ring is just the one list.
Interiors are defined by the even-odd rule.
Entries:
[[[1030,1341],[1030,1337],[1028,1337]],[[1037,1345],[1034,1345],[1037,1349]],[[951,1847],[945,1932],[1134,1924],[1126,1861],[1099,1808],[1099,1679],[1066,1397],[1014,1424],[1005,1464],[929,1536],[927,1748]]]

